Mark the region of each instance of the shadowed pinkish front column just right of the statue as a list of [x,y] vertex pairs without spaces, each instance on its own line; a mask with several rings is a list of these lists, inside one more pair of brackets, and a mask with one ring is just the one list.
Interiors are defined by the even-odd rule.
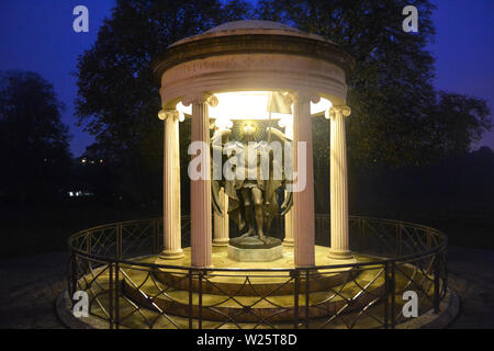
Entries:
[[[306,92],[292,95],[295,185],[293,193],[293,241],[295,267],[313,267],[314,258],[314,170],[312,152],[311,101],[318,97]],[[305,152],[301,143],[305,143]],[[300,150],[301,148],[301,150]],[[301,155],[299,155],[301,151]],[[300,156],[300,157],[299,157]],[[300,163],[300,165],[299,165]],[[299,167],[300,166],[300,167]],[[305,172],[304,169],[305,168]],[[305,176],[305,181],[301,179]],[[305,184],[304,184],[305,183]],[[305,186],[304,186],[305,185]]]

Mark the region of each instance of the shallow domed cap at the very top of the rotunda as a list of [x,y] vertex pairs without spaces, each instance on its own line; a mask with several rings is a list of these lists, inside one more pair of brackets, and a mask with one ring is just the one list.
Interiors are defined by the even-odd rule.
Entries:
[[247,20],[247,21],[234,21],[234,22],[223,23],[223,24],[215,26],[202,34],[198,34],[198,35],[190,36],[184,39],[178,41],[178,42],[171,44],[170,47],[177,46],[180,44],[184,44],[184,43],[189,43],[189,42],[209,38],[209,37],[245,35],[245,34],[289,35],[289,36],[306,37],[306,38],[312,38],[312,39],[316,39],[316,41],[333,43],[330,41],[325,39],[321,35],[304,33],[297,29],[294,29],[292,26],[289,26],[289,25],[285,25],[282,23],[272,22],[272,21]]

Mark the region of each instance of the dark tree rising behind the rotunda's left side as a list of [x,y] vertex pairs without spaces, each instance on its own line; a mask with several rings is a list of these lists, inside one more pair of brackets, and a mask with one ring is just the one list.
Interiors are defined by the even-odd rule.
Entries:
[[180,38],[244,19],[249,11],[243,1],[117,1],[97,43],[79,57],[79,124],[100,146],[111,145],[119,154],[112,159],[115,168],[125,170],[122,191],[130,196],[160,199],[162,122],[157,118],[159,84],[153,58]]

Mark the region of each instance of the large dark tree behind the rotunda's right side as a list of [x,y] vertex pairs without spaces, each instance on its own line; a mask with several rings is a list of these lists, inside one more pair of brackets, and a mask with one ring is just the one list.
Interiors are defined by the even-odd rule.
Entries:
[[[418,33],[402,30],[406,5],[418,9]],[[357,60],[348,93],[352,110],[347,122],[350,163],[406,167],[434,162],[452,145],[467,152],[471,141],[491,127],[489,110],[481,100],[439,94],[437,102],[431,83],[434,58],[426,50],[435,34],[434,9],[427,0],[259,2],[260,18],[319,34]],[[459,111],[451,103],[461,104]],[[478,114],[471,114],[469,110],[475,109]],[[447,117],[452,110],[457,122]],[[327,152],[315,146],[315,154]]]

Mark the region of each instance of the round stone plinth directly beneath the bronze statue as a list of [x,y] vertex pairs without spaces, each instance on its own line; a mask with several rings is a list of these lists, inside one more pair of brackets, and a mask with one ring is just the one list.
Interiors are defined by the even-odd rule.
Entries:
[[267,242],[257,237],[234,238],[229,240],[228,259],[238,262],[271,262],[283,257],[280,239],[267,237]]

